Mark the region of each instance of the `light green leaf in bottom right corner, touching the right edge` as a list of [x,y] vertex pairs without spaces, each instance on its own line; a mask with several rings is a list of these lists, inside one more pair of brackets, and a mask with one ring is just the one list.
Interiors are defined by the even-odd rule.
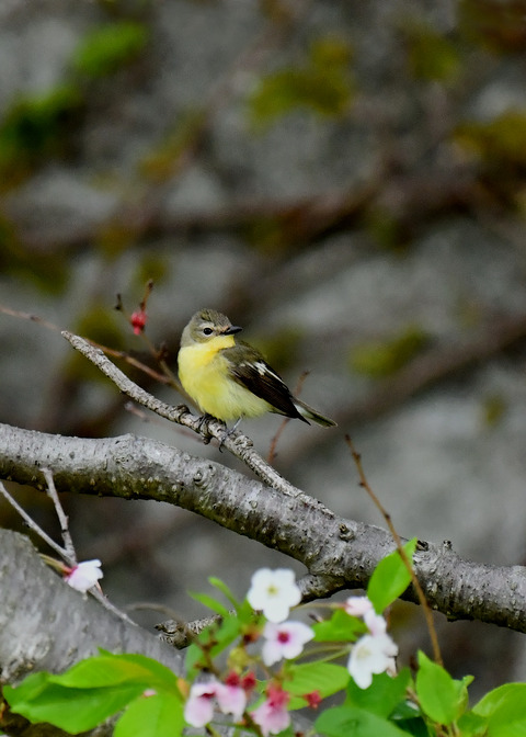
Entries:
[[526,683],[505,683],[490,691],[473,706],[473,714],[488,721],[489,737],[525,737]]

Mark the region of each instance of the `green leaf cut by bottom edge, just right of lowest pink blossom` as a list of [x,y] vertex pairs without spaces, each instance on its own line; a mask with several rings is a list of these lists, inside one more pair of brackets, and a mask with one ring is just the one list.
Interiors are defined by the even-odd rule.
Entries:
[[328,737],[401,737],[410,733],[356,706],[336,706],[320,714],[315,728]]

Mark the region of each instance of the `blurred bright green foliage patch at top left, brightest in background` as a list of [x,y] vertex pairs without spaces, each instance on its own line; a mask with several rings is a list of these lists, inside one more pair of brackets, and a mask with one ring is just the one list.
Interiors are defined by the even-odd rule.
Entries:
[[149,31],[144,23],[117,21],[89,33],[77,48],[72,67],[93,79],[106,77],[135,59],[145,48]]

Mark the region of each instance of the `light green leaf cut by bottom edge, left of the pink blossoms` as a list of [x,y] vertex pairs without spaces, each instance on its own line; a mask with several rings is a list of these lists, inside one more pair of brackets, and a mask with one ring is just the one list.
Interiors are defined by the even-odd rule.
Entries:
[[179,737],[184,726],[183,704],[172,694],[139,696],[115,725],[114,737]]

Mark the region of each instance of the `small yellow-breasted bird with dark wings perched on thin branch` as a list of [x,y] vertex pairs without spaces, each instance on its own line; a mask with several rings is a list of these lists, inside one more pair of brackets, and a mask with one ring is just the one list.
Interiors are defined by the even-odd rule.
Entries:
[[283,378],[255,348],[235,335],[242,328],[215,309],[199,309],[184,328],[179,351],[179,378],[202,412],[236,420],[277,412],[324,428],[335,422],[294,397]]

